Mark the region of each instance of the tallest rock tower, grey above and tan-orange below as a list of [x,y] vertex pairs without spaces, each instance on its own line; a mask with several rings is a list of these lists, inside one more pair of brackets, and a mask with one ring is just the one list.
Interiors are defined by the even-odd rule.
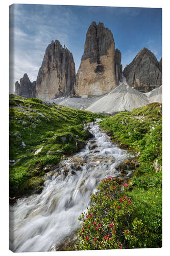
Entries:
[[92,22],[77,73],[76,95],[84,98],[102,95],[116,87],[114,46],[111,31],[103,23]]

